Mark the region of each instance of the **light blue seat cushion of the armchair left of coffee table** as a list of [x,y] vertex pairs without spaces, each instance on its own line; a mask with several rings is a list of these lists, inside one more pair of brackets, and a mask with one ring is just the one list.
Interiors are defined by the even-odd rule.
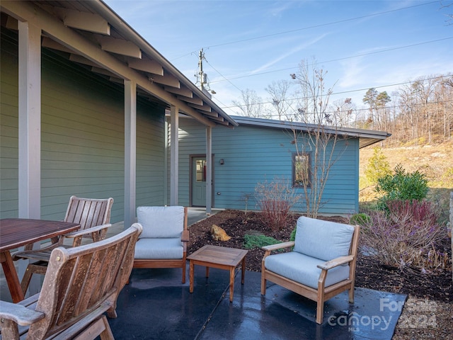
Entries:
[[134,259],[183,259],[183,242],[173,239],[139,239]]

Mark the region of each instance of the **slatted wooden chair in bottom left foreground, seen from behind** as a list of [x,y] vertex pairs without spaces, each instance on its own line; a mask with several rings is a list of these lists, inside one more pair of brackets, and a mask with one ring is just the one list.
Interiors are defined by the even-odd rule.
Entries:
[[104,313],[117,317],[140,232],[134,223],[100,242],[54,249],[40,293],[18,304],[0,302],[3,339],[114,339]]

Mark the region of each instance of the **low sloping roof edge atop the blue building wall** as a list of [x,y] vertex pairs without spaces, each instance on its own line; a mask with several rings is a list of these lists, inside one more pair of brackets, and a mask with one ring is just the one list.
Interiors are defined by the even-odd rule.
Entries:
[[[239,115],[231,116],[239,125],[253,125],[262,128],[277,128],[284,130],[299,130],[310,132],[318,129],[318,125],[297,123],[297,122],[285,122],[282,120],[271,120],[264,118],[250,118]],[[353,128],[336,128],[332,126],[323,126],[323,132],[340,135],[343,137],[358,138],[359,148],[373,145],[374,143],[381,142],[391,134],[388,132],[376,131],[376,130],[364,130],[364,129],[353,129]]]

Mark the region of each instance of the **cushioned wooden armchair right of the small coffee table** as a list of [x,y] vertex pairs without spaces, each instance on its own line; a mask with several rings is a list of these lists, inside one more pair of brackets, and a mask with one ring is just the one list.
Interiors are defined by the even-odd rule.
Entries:
[[[359,226],[299,217],[294,242],[263,246],[261,294],[270,280],[317,302],[316,323],[323,322],[324,302],[349,290],[354,302]],[[292,251],[270,254],[277,249]]]

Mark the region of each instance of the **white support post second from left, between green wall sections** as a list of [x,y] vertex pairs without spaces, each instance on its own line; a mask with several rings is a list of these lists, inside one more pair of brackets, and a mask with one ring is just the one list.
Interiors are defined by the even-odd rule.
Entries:
[[125,80],[125,222],[127,229],[135,222],[137,183],[137,84]]

